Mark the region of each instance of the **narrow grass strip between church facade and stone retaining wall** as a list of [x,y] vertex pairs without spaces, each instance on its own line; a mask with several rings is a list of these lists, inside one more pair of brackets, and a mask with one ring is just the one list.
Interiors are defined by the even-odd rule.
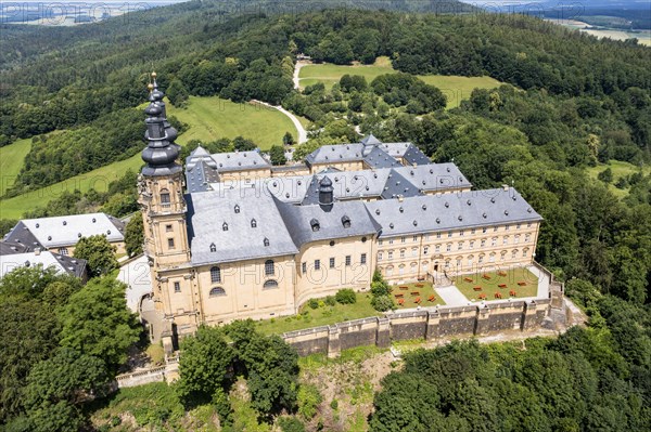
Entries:
[[355,304],[336,303],[334,306],[329,306],[322,302],[320,304],[318,309],[311,309],[304,304],[298,315],[263,319],[257,323],[257,328],[264,335],[281,335],[285,331],[382,315],[382,312],[378,312],[371,306],[370,292],[358,292]]

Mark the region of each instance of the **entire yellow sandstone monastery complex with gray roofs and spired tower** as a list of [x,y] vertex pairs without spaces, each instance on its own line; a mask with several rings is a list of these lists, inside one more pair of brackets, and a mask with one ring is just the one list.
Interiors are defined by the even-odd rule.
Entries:
[[295,314],[311,298],[528,265],[541,217],[510,186],[474,191],[410,143],[323,146],[271,167],[258,152],[180,165],[164,94],[150,86],[139,178],[156,309],[177,335]]

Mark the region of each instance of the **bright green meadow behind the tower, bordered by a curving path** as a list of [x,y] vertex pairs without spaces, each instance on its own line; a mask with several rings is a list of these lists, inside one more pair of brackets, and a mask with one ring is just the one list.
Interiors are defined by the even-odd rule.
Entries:
[[184,108],[175,108],[168,103],[167,113],[189,126],[179,135],[179,144],[186,144],[190,140],[209,142],[242,135],[253,140],[261,149],[268,149],[273,144],[282,144],[282,136],[288,131],[298,136],[292,120],[282,113],[259,104],[235,104],[217,96],[190,96]]

